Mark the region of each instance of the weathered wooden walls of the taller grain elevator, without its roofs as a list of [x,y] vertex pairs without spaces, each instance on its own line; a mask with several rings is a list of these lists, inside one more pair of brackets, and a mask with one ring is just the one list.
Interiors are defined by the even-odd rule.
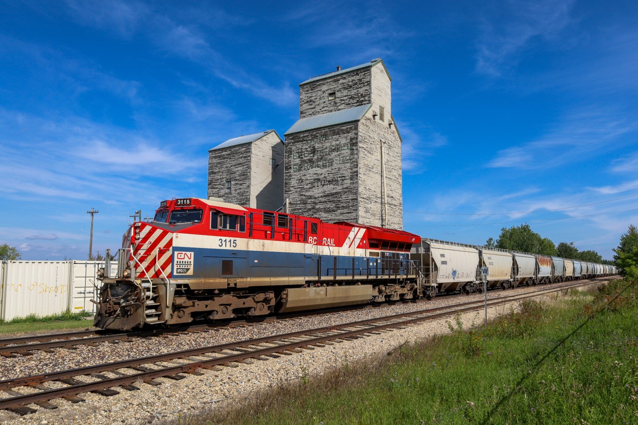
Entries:
[[[329,100],[328,94],[333,91],[336,99]],[[286,137],[285,193],[291,212],[327,221],[382,225],[383,138],[388,212],[385,225],[403,228],[401,139],[396,126],[390,126],[390,78],[383,65],[304,84],[299,93],[301,118],[367,103],[373,106],[359,123]],[[380,106],[384,108],[383,121]],[[348,154],[341,150],[346,145]]]

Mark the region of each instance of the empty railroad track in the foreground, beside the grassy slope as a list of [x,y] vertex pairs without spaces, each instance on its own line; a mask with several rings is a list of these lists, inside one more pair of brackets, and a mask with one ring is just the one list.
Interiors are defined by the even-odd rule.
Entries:
[[[540,288],[532,293],[506,295],[498,299],[488,300],[488,306],[496,306],[505,302],[521,301],[539,295],[551,294],[569,288],[590,284],[591,281],[572,283],[560,288]],[[150,355],[137,359],[86,366],[84,368],[45,373],[29,377],[13,378],[0,381],[0,390],[11,397],[0,399],[0,409],[7,409],[20,415],[30,414],[36,409],[29,407],[34,403],[41,408],[54,409],[56,405],[50,400],[66,398],[72,403],[83,401],[78,397],[82,392],[95,392],[103,396],[119,394],[114,387],[122,387],[126,391],[139,389],[137,382],[160,385],[156,378],[180,380],[183,373],[202,375],[202,369],[218,369],[221,366],[237,367],[237,362],[249,359],[266,361],[269,358],[293,355],[302,349],[313,350],[341,343],[348,339],[364,338],[373,334],[404,329],[413,324],[434,320],[462,311],[470,311],[483,307],[483,301],[468,301],[454,306],[426,309],[411,313],[401,313],[383,318],[360,320],[342,325],[331,325],[309,331],[289,332],[275,336],[248,339],[209,347],[193,348],[168,354]],[[251,360],[252,361],[252,360]],[[107,375],[108,374],[108,375]],[[52,382],[66,384],[54,388]],[[49,385],[45,385],[49,383]],[[56,386],[59,384],[56,384]],[[138,384],[137,384],[138,385]],[[23,391],[15,391],[22,387]],[[38,390],[37,392],[31,392]]]

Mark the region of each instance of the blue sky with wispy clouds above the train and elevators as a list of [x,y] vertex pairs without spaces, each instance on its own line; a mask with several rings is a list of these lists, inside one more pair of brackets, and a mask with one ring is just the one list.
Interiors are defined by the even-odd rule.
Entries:
[[405,230],[529,223],[611,258],[638,224],[635,1],[272,4],[0,0],[0,243],[84,259],[94,207],[115,249],[135,210],[206,196],[208,149],[283,135],[300,82],[376,57]]

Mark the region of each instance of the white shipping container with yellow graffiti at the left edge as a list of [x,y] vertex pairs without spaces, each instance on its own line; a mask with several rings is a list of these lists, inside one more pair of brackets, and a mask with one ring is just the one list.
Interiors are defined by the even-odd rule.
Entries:
[[69,306],[70,262],[4,261],[0,318],[47,316]]

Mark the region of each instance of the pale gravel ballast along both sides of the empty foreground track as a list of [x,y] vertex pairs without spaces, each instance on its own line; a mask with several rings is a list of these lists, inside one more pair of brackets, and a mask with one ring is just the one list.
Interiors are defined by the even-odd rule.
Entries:
[[[592,287],[597,285],[600,285],[600,282],[591,283]],[[544,285],[542,288],[549,289],[556,286],[558,285]],[[523,294],[524,292],[528,292],[528,289],[495,290],[488,293],[488,299],[498,299],[505,295]],[[563,296],[565,295],[559,295],[559,298]],[[0,359],[0,379],[302,331],[325,325],[344,324],[353,320],[385,317],[397,313],[420,311],[482,299],[482,294],[463,297],[436,297],[425,303],[384,305],[378,308],[262,322],[235,328],[216,328],[207,332],[176,334],[167,338],[137,339],[119,344],[104,343],[96,347],[78,346],[77,350],[60,348],[54,349],[52,353],[36,352],[29,356]],[[545,302],[556,302],[556,295],[545,295],[542,299]],[[507,313],[510,309],[516,308],[517,304],[518,302],[514,301],[488,308],[488,318]],[[461,320],[464,327],[480,325],[484,320],[484,312],[480,310],[463,313]],[[314,350],[303,350],[299,354],[283,355],[278,359],[237,364],[237,368],[203,370],[204,375],[186,375],[186,378],[179,381],[158,378],[157,381],[161,382],[162,385],[151,386],[138,383],[136,384],[140,388],[138,391],[130,392],[118,389],[120,394],[112,397],[83,393],[80,394],[80,397],[85,399],[84,403],[73,404],[66,399],[56,399],[52,401],[53,404],[59,406],[56,410],[45,410],[34,406],[34,408],[38,408],[38,412],[24,417],[12,412],[0,411],[0,422],[6,424],[132,424],[149,423],[158,419],[177,419],[179,415],[188,415],[189,412],[211,408],[235,398],[245,398],[253,391],[267,389],[288,380],[322,373],[329,368],[338,367],[347,362],[389,352],[404,343],[449,332],[447,324],[449,321],[450,318],[441,318],[410,325],[405,329],[382,332],[380,335],[334,343],[321,348],[317,347]],[[106,373],[106,375],[109,374]],[[91,380],[91,378],[86,378],[86,380]],[[48,387],[63,386],[63,384],[56,382],[50,382],[46,385]],[[20,389],[19,391],[27,392],[29,390]]]

